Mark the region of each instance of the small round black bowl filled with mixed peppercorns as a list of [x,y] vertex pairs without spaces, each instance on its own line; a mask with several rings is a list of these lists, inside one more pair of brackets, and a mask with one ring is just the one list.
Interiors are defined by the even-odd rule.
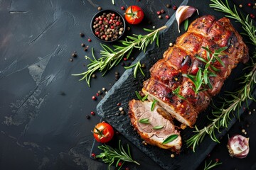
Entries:
[[90,23],[92,34],[102,42],[119,40],[125,32],[125,21],[122,14],[112,9],[99,11]]

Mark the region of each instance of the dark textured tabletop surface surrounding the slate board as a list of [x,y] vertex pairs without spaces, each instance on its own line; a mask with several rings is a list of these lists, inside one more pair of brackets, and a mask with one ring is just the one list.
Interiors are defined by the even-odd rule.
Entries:
[[[97,74],[91,88],[85,81],[78,81],[79,77],[70,76],[84,72],[84,64],[89,63],[84,56],[91,56],[91,52],[82,49],[82,42],[94,47],[96,57],[100,57],[100,42],[90,33],[90,20],[98,6],[124,13],[121,6],[135,4],[143,8],[145,18],[127,34],[144,34],[142,28],[159,28],[166,23],[165,18],[157,18],[156,11],[164,8],[171,16],[174,10],[165,4],[178,6],[180,2],[116,1],[113,6],[110,0],[0,1],[0,169],[106,169],[105,164],[90,159],[90,130],[100,121],[98,115],[90,112],[96,111],[101,96],[97,101],[91,98],[102,87],[109,90],[115,83],[114,72],[122,74],[124,68],[119,65],[103,78]],[[199,11],[205,6],[201,2],[195,3]],[[255,1],[235,1],[244,6],[246,13],[255,14],[247,3]],[[84,38],[79,36],[81,32],[85,33]],[[92,38],[92,42],[87,42],[87,38]],[[73,51],[77,51],[78,57],[70,62]],[[134,57],[138,53],[134,52]],[[128,62],[131,61],[125,63]],[[229,157],[225,135],[206,158],[208,162],[223,162],[216,169],[256,169],[254,108],[255,103],[228,132],[242,134],[241,129],[245,128],[250,137],[250,154],[246,159]],[[90,115],[89,120],[86,115]],[[115,138],[119,137],[122,138]],[[130,145],[134,159],[142,164],[127,164],[130,169],[161,169]]]

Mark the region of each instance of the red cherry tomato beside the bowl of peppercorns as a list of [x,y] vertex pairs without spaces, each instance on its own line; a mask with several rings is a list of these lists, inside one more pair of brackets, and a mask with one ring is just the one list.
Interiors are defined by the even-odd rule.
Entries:
[[144,18],[144,12],[139,6],[129,6],[124,13],[125,20],[130,24],[138,24]]

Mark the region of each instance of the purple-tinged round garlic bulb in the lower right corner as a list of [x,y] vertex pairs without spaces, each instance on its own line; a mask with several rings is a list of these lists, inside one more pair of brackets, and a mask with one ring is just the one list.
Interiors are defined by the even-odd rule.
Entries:
[[228,139],[227,147],[231,157],[245,158],[249,153],[249,138],[233,135]]

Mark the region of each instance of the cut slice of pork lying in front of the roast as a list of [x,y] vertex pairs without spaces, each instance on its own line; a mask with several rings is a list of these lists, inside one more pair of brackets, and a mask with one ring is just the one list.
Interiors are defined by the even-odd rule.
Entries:
[[[151,104],[149,101],[129,101],[129,117],[132,125],[148,144],[170,149],[173,152],[180,152],[182,145],[180,133],[171,120],[163,116],[165,114],[164,109],[156,105],[154,111],[151,111]],[[149,119],[149,124],[139,123],[139,120],[142,119]],[[154,127],[156,126],[162,126],[163,128],[155,130]],[[170,135],[178,135],[178,137],[169,143],[163,144],[164,140]]]

